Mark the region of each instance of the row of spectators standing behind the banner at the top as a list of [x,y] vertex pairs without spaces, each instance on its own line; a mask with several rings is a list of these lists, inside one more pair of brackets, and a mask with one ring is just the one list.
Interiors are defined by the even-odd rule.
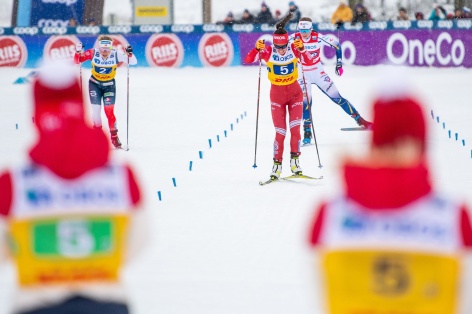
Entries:
[[[286,13],[293,14],[290,23],[296,23],[302,17],[299,7],[294,1],[288,3]],[[286,14],[285,13],[285,14]],[[258,13],[251,13],[248,9],[244,9],[239,19],[236,19],[233,12],[229,12],[224,20],[217,22],[217,24],[232,25],[232,24],[271,24],[274,25],[282,18],[282,12],[276,10],[272,14],[271,9],[264,1],[261,3],[261,8]],[[405,7],[400,7],[396,16],[388,18],[388,20],[409,21],[409,20],[452,20],[452,19],[470,19],[472,18],[471,9],[464,6],[462,8],[455,8],[454,12],[448,12],[442,5],[435,3],[429,15],[423,12],[408,12]],[[348,5],[347,0],[340,0],[339,5],[331,16],[331,23],[336,24],[338,28],[344,23],[356,24],[374,21],[369,9],[362,3],[357,3],[354,8]],[[379,18],[378,20],[385,20]]]

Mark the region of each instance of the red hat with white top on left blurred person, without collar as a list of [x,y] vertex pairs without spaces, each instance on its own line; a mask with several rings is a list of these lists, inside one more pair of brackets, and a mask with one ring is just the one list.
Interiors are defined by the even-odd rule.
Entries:
[[33,83],[34,118],[39,132],[61,129],[66,120],[84,121],[77,69],[67,61],[50,61]]

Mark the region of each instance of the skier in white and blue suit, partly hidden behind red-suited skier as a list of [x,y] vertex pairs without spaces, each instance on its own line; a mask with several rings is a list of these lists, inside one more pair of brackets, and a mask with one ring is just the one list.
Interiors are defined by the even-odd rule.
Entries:
[[[329,77],[328,73],[324,70],[323,65],[320,62],[320,51],[322,46],[329,46],[336,50],[336,70],[335,73],[338,76],[343,74],[342,67],[342,51],[339,41],[333,36],[325,36],[313,30],[313,22],[309,17],[302,17],[298,22],[298,32],[290,35],[290,41],[301,39],[305,45],[306,50],[312,55],[311,59],[302,60],[303,71],[299,71],[298,83],[304,91],[304,104],[303,104],[303,129],[305,131],[303,143],[309,144],[311,142],[311,104],[312,104],[312,92],[311,84],[315,84],[318,88],[327,95],[335,104],[339,105],[348,115],[350,115],[359,126],[364,128],[371,128],[372,123],[366,121],[361,117],[359,112],[354,106],[342,97],[339,93],[333,80]],[[302,75],[303,74],[303,75]],[[308,94],[308,100],[305,95]]]

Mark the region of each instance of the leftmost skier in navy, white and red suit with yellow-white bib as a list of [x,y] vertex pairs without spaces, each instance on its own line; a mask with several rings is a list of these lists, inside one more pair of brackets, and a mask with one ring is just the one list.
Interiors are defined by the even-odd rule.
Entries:
[[92,62],[92,75],[89,80],[89,96],[92,104],[92,120],[95,128],[102,127],[101,103],[105,108],[105,115],[110,128],[111,142],[116,148],[121,147],[116,127],[115,97],[116,68],[121,63],[134,65],[138,63],[133,55],[133,48],[126,47],[126,53],[113,48],[113,39],[109,36],[100,36],[98,48],[91,48],[84,52],[82,43],[76,45],[75,63],[79,64],[90,60]]

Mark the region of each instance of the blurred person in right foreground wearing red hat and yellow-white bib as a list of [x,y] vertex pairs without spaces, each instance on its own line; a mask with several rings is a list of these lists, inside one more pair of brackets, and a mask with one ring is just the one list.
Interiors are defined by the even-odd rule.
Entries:
[[320,206],[311,228],[323,313],[458,313],[468,209],[434,189],[422,105],[395,86],[405,76],[387,77],[367,156],[343,161],[343,192]]

